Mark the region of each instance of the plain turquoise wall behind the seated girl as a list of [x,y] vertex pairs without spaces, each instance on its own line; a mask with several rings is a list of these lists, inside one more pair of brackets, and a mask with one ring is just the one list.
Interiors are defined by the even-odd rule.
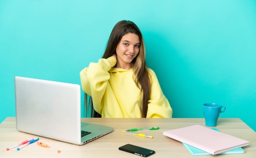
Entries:
[[216,102],[256,131],[255,0],[0,0],[0,122],[15,116],[14,76],[80,85],[120,20],[141,29],[173,118]]

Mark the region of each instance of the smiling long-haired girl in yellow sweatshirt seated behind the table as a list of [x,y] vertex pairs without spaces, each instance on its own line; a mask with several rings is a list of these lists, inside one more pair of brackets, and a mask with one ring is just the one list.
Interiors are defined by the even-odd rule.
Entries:
[[85,67],[80,78],[85,109],[91,117],[172,117],[157,76],[146,65],[141,31],[131,21],[115,25],[103,57]]

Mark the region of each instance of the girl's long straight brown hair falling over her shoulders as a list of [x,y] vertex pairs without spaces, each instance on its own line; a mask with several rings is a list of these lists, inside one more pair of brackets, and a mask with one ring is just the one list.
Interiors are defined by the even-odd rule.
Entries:
[[[148,72],[148,67],[146,65],[146,50],[144,39],[142,36],[139,27],[134,22],[122,20],[119,21],[115,27],[112,29],[110,34],[106,50],[102,56],[102,58],[109,58],[116,52],[117,45],[121,41],[121,38],[127,33],[135,33],[139,36],[140,39],[140,48],[139,54],[132,61],[133,64],[133,80],[139,89],[141,89],[141,98],[139,98],[139,105],[141,110],[141,118],[146,118],[147,110],[148,110],[148,100],[150,95],[150,73]],[[92,97],[87,96],[85,93],[85,109],[87,113],[90,113],[91,117],[101,117],[99,113],[97,113],[93,108]]]

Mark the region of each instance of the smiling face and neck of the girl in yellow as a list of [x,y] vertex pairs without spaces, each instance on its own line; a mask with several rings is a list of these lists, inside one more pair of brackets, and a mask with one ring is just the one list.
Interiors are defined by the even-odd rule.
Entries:
[[117,45],[117,64],[116,67],[130,70],[132,68],[132,60],[139,53],[140,39],[135,33],[127,33]]

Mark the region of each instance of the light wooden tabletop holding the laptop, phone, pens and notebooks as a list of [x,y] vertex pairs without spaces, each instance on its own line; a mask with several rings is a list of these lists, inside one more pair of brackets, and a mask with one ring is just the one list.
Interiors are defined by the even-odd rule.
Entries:
[[[7,117],[0,124],[0,158],[139,158],[140,156],[118,149],[128,143],[155,150],[156,153],[150,158],[192,158],[195,156],[192,156],[181,142],[164,136],[163,131],[197,124],[204,126],[203,118],[81,118],[81,120],[114,127],[114,131],[81,146],[39,137],[40,142],[61,150],[61,153],[41,147],[36,143],[28,145],[20,151],[17,151],[16,148],[7,151],[7,147],[36,137],[17,131],[15,117]],[[140,131],[140,133],[153,136],[152,139],[122,133],[126,129],[143,127],[160,127],[160,129]],[[250,141],[249,146],[243,147],[245,154],[198,156],[198,158],[256,158],[256,132],[242,120],[219,118],[216,128],[223,133]]]

